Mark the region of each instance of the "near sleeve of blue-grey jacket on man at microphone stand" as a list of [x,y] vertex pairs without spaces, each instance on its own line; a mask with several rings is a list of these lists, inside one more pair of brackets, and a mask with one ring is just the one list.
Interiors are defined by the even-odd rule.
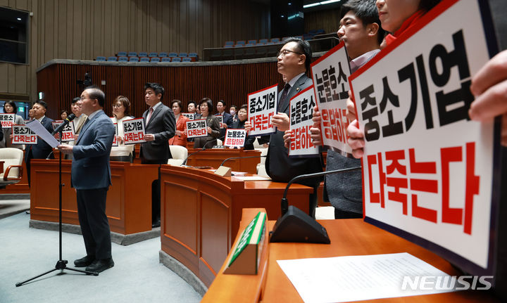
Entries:
[[108,118],[96,120],[94,123],[96,123],[96,125],[94,125],[92,129],[87,130],[87,132],[93,131],[93,143],[86,146],[74,146],[74,159],[79,160],[83,157],[99,157],[111,153],[111,146],[115,135],[113,122]]

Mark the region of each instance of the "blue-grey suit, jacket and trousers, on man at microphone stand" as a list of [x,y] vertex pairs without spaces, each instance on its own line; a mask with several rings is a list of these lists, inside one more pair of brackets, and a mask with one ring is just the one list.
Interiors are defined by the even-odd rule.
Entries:
[[106,196],[111,185],[109,154],[114,135],[113,122],[101,110],[84,124],[73,147],[71,180],[77,190],[77,215],[87,255],[96,259],[111,257]]

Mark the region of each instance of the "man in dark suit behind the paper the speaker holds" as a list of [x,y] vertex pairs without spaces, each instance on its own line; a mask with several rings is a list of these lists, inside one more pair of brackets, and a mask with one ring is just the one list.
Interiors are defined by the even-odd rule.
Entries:
[[[54,120],[46,117],[47,103],[39,100],[34,103],[32,107],[34,119],[39,120],[42,126],[47,129],[50,133],[53,132],[53,122]],[[30,160],[32,159],[54,159],[53,148],[49,146],[46,141],[39,138],[37,140],[37,144],[27,146],[27,152],[25,155],[25,163],[27,166],[27,177],[28,177],[28,186],[30,186]]]

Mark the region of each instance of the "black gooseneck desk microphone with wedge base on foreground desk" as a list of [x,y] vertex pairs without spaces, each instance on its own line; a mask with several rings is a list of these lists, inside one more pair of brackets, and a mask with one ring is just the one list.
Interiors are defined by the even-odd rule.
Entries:
[[295,243],[331,243],[324,226],[320,225],[315,219],[308,216],[301,209],[294,205],[289,205],[287,193],[289,187],[295,181],[303,179],[313,179],[326,174],[337,174],[361,169],[361,167],[351,167],[346,169],[336,169],[327,172],[317,172],[315,174],[301,174],[292,178],[285,186],[284,195],[281,201],[282,216],[277,219],[273,231],[270,232],[270,242],[295,242]]

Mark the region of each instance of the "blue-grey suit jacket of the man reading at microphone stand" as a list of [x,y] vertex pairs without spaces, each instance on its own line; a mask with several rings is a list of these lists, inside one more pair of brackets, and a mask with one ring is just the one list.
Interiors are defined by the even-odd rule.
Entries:
[[82,127],[73,148],[73,187],[94,189],[111,185],[109,154],[114,135],[113,122],[102,110]]

